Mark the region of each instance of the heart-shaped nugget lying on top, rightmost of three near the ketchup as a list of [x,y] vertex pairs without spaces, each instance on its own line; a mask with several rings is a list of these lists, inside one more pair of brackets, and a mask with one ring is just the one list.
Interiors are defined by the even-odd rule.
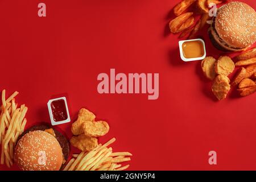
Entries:
[[101,137],[109,132],[109,124],[105,121],[86,121],[82,123],[82,129],[88,137]]

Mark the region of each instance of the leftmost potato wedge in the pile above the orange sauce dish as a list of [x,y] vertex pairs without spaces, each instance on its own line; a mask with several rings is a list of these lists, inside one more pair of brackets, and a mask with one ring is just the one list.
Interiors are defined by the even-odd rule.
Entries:
[[188,13],[184,13],[180,16],[177,16],[175,19],[171,20],[171,22],[169,23],[169,27],[170,27],[170,31],[173,34],[177,33],[177,30],[179,30],[179,28],[181,27],[181,25],[187,21],[187,19],[189,17],[191,17],[193,15],[192,12],[188,12]]

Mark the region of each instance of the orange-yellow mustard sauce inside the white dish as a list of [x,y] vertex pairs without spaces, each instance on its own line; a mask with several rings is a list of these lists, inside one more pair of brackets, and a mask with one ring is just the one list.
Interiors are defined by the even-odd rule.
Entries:
[[182,50],[185,58],[204,56],[204,45],[200,40],[184,42],[182,44]]

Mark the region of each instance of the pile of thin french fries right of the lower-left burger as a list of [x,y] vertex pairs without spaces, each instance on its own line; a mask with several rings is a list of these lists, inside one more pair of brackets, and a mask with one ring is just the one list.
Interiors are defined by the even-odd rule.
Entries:
[[99,144],[94,150],[80,154],[73,154],[63,171],[122,171],[129,167],[129,164],[122,166],[122,162],[130,161],[130,152],[112,152],[108,146],[115,142],[110,139],[105,144]]

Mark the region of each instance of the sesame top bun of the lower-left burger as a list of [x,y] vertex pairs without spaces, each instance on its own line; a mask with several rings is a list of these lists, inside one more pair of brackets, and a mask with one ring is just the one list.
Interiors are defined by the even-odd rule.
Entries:
[[53,135],[38,130],[19,139],[14,162],[23,171],[58,171],[63,163],[63,154]]

